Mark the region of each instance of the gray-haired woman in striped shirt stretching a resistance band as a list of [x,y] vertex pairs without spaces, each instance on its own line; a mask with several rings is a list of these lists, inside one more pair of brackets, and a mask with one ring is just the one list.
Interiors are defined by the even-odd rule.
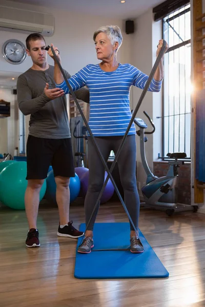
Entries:
[[[107,161],[110,151],[115,153],[125,134],[126,128],[131,119],[129,93],[131,85],[144,89],[148,76],[140,72],[130,64],[117,62],[117,50],[121,46],[122,35],[119,27],[106,26],[99,28],[93,35],[97,59],[99,64],[88,64],[77,74],[69,79],[69,83],[76,91],[85,85],[90,91],[90,119],[89,125],[98,146]],[[157,46],[159,54],[162,41]],[[57,48],[55,53],[60,61]],[[53,57],[51,50],[49,55]],[[163,78],[162,60],[156,70],[154,78],[148,91],[159,92]],[[56,86],[65,94],[69,93],[68,86],[61,75],[59,67],[55,62],[54,79]],[[128,208],[132,221],[137,232],[130,224],[130,245],[131,252],[141,253],[144,251],[139,233],[139,195],[136,185],[136,129],[132,124],[124,147],[120,152],[117,164],[119,168],[120,180],[124,188],[125,204]],[[99,192],[104,184],[105,168],[101,163],[99,154],[95,149],[92,139],[88,138],[88,164],[89,164],[89,187],[85,199],[86,225],[90,219],[93,208],[96,204]],[[90,253],[94,246],[93,227],[97,215],[99,204],[90,222],[85,238],[78,247],[79,253]],[[112,234],[111,234],[112,235]]]

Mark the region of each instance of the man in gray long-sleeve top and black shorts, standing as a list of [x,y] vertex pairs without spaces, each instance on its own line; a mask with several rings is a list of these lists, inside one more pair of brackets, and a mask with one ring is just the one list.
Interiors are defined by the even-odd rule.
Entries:
[[[78,238],[78,231],[69,222],[69,180],[75,176],[71,134],[64,91],[55,88],[54,67],[47,63],[46,42],[38,33],[26,39],[27,54],[33,65],[17,80],[17,101],[24,115],[31,115],[27,141],[27,180],[25,193],[29,232],[27,247],[40,246],[37,230],[39,192],[49,165],[52,164],[56,182],[56,202],[59,211],[58,236]],[[65,71],[67,78],[70,78]],[[78,99],[89,103],[86,88],[75,92]]]

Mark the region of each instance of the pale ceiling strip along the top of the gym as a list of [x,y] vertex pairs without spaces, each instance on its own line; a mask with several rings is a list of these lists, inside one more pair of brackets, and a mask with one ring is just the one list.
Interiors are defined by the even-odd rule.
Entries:
[[69,10],[78,13],[100,15],[113,18],[136,18],[148,9],[165,0],[15,0],[15,3],[25,3],[49,8]]

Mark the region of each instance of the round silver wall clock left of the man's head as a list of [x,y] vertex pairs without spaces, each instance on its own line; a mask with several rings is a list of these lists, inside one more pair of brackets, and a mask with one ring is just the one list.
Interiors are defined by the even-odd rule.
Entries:
[[20,64],[26,59],[26,47],[17,39],[7,40],[2,47],[5,60],[11,64]]

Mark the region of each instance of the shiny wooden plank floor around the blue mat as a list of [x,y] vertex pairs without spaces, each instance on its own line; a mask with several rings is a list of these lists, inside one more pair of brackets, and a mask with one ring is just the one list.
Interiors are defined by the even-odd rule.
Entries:
[[[84,222],[82,205],[71,206],[70,211],[76,227]],[[101,206],[97,222],[125,221],[121,204]],[[28,249],[25,212],[0,206],[1,307],[205,306],[204,214],[168,217],[141,209],[140,229],[169,271],[166,279],[76,279],[76,240],[57,237],[57,226],[57,209],[41,206],[41,247]]]

